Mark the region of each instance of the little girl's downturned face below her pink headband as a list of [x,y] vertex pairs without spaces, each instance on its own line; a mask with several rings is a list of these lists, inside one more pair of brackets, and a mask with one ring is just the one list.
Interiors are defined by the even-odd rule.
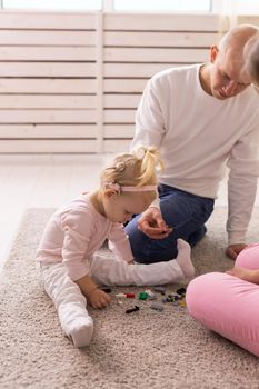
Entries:
[[133,215],[142,213],[156,197],[157,193],[155,191],[121,194],[106,191],[102,198],[102,206],[106,217],[110,221],[126,223]]

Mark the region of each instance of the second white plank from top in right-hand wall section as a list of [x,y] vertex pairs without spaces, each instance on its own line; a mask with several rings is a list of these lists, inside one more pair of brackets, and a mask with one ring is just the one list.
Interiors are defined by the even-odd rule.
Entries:
[[104,46],[209,48],[218,38],[217,32],[104,31]]

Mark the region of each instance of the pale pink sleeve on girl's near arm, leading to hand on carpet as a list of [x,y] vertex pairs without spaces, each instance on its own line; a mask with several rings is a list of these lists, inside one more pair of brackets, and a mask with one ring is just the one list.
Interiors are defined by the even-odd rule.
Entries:
[[64,233],[62,246],[63,263],[73,281],[88,273],[86,257],[89,239],[90,223],[88,213],[81,210],[72,210],[61,219],[61,228]]

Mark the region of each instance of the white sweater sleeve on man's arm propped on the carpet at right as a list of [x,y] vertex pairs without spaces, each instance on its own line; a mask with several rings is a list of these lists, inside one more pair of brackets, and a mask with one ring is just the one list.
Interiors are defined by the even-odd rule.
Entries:
[[[258,123],[258,121],[257,121]],[[259,176],[259,128],[256,126],[232,148],[228,160],[228,245],[245,243]]]

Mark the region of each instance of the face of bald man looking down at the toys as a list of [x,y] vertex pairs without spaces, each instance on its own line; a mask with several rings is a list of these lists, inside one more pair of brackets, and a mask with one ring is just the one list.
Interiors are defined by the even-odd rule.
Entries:
[[226,52],[220,54],[217,47],[211,48],[210,89],[211,94],[226,100],[242,92],[250,83],[243,71],[243,63],[233,61],[233,57]]

